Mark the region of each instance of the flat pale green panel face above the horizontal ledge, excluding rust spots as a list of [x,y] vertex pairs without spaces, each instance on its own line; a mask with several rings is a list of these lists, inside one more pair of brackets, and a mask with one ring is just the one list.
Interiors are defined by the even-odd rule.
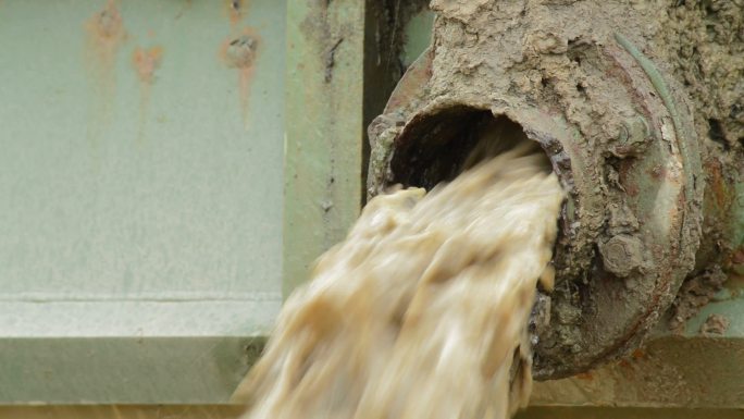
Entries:
[[[101,2],[2,3],[3,295],[276,293],[284,10],[247,8],[244,112],[222,3],[122,2],[109,51],[86,29]],[[147,83],[134,56],[153,47]]]

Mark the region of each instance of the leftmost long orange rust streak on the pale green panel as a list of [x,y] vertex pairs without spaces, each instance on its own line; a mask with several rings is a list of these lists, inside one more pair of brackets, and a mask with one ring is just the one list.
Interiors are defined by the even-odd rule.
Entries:
[[95,140],[111,119],[116,94],[116,57],[126,39],[117,1],[109,0],[101,11],[85,22],[84,28],[86,63],[96,98],[91,104],[92,121],[88,136]]

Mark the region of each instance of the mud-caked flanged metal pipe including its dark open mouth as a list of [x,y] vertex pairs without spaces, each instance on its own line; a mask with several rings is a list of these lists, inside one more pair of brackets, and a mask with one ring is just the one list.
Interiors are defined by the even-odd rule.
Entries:
[[[568,198],[556,287],[532,319],[536,378],[627,353],[685,278],[741,269],[744,94],[730,89],[744,69],[726,36],[690,34],[712,20],[736,36],[744,13],[655,1],[432,8],[432,46],[370,125],[369,194],[452,178],[487,124],[540,143]],[[727,72],[703,71],[695,51],[716,52],[706,60]]]

